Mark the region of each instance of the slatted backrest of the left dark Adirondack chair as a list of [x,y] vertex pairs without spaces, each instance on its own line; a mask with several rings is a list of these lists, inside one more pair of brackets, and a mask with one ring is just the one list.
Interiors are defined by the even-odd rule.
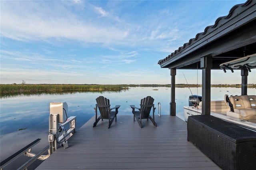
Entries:
[[99,108],[100,115],[103,119],[108,119],[110,113],[110,102],[106,97],[100,96],[96,99],[96,106]]

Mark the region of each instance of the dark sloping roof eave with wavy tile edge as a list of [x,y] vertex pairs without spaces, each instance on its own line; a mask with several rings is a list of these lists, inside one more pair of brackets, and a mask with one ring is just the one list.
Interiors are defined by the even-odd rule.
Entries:
[[212,43],[214,40],[229,34],[233,30],[240,28],[247,22],[256,18],[256,1],[247,1],[231,8],[227,16],[220,17],[213,26],[207,26],[203,33],[198,33],[196,38],[190,39],[183,47],[179,47],[168,57],[159,60],[161,68],[169,68],[170,63]]

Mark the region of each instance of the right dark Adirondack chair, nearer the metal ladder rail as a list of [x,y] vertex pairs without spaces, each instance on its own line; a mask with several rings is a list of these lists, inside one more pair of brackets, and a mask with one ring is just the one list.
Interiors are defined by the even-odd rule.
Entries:
[[[155,122],[155,109],[154,107],[154,99],[151,96],[147,96],[144,99],[141,99],[140,101],[140,108],[135,107],[134,105],[130,105],[132,108],[132,113],[133,113],[133,121],[136,120],[138,121],[140,127],[142,128],[142,119],[150,119],[150,121],[153,123],[153,125],[156,127],[156,122]],[[149,115],[151,108],[153,108],[153,118]],[[139,111],[135,111],[135,109],[138,109]]]

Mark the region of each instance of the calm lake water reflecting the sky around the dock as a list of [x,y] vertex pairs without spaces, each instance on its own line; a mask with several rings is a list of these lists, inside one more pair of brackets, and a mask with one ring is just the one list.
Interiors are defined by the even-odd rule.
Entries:
[[[190,88],[193,95],[202,95],[201,88]],[[183,106],[188,105],[191,95],[189,88],[176,88],[176,116],[184,120]],[[224,95],[241,95],[240,88],[211,88],[211,100],[224,100]],[[256,95],[256,89],[248,89],[248,94]],[[95,115],[95,99],[99,96],[110,99],[111,107],[121,105],[118,115],[132,115],[130,105],[139,107],[140,99],[153,97],[157,116],[158,103],[161,104],[161,115],[170,115],[170,87],[130,87],[126,91],[84,92],[64,95],[30,95],[1,99],[0,103],[0,153],[1,161],[14,154],[37,138],[42,140],[32,148],[38,153],[48,143],[50,102],[63,101],[68,104],[68,117],[76,116],[76,127],[79,129]],[[131,117],[131,121],[133,118]],[[26,128],[24,130],[18,130]],[[30,157],[20,156],[4,169],[17,169]],[[42,161],[36,160],[28,169],[34,169]]]

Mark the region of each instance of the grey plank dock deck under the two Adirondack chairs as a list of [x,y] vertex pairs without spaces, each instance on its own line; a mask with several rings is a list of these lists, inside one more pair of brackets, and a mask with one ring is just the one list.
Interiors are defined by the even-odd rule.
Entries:
[[186,122],[178,117],[155,116],[157,127],[143,120],[140,128],[132,115],[118,115],[92,127],[92,117],[36,170],[63,169],[168,169],[218,170],[210,158],[187,141]]

